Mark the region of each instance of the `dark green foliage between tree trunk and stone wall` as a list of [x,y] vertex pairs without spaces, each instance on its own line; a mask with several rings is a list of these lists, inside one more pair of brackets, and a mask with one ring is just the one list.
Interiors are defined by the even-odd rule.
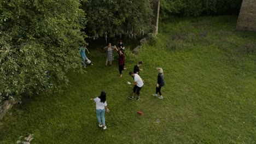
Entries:
[[162,0],[161,16],[168,17],[173,14],[184,16],[225,15],[238,14],[241,0]]

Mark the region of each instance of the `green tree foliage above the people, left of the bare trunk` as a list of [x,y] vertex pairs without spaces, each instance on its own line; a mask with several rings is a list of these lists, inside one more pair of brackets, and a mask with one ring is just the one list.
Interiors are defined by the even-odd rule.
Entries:
[[149,0],[82,1],[88,23],[86,34],[97,38],[107,35],[131,37],[152,30],[153,9]]

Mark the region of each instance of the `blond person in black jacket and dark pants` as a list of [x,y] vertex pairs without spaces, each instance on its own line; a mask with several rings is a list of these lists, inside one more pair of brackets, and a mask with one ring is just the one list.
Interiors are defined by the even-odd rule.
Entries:
[[163,99],[162,97],[162,93],[161,93],[161,87],[165,86],[165,78],[164,78],[164,73],[162,71],[162,68],[156,68],[156,70],[158,70],[158,83],[156,84],[156,88],[155,88],[155,93],[153,94],[153,96],[158,97],[158,93],[160,94],[160,97],[158,97],[159,99]]

